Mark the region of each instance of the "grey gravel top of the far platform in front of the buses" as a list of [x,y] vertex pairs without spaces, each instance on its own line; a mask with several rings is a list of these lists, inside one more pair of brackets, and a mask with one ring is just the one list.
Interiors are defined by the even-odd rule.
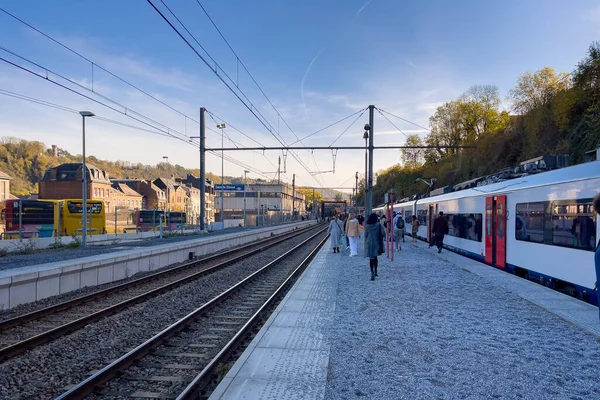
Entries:
[[[261,227],[262,228],[262,227]],[[74,258],[83,258],[97,256],[100,254],[112,253],[116,251],[123,251],[123,248],[133,247],[150,247],[159,246],[169,243],[182,242],[186,240],[194,240],[203,237],[212,237],[217,235],[225,235],[229,233],[240,232],[243,230],[256,229],[256,228],[229,228],[221,231],[215,231],[208,234],[188,234],[184,236],[174,236],[165,239],[151,238],[142,239],[135,242],[106,244],[106,245],[89,245],[85,249],[82,248],[62,248],[56,250],[43,250],[33,254],[9,254],[4,257],[0,257],[0,271],[5,269],[13,269],[20,267],[27,267],[30,265],[46,264],[51,262],[71,260]],[[26,240],[23,243],[27,243]]]

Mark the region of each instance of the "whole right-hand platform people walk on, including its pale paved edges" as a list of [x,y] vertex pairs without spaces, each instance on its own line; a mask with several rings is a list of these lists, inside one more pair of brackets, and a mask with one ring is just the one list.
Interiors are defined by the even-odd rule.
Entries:
[[598,308],[426,243],[326,245],[210,399],[600,398]]

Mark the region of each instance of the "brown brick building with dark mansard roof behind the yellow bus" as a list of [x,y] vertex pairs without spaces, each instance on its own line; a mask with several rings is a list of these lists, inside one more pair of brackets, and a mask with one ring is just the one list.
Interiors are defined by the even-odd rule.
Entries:
[[[86,163],[87,197],[90,200],[104,200],[107,208],[111,201],[111,182],[108,173]],[[81,199],[82,166],[80,163],[61,164],[49,168],[38,183],[40,199]]]

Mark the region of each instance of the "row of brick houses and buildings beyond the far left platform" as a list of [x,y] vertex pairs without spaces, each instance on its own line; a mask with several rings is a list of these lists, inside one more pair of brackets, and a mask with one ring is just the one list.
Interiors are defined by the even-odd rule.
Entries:
[[[183,211],[188,223],[200,220],[200,178],[110,179],[108,173],[86,164],[89,199],[104,200],[107,213],[119,210]],[[39,182],[39,199],[82,197],[82,164],[62,164],[50,168]],[[207,223],[241,219],[244,214],[277,214],[282,220],[303,215],[305,197],[287,184],[213,185],[205,182]],[[244,213],[246,210],[246,213]],[[250,221],[248,221],[250,222]]]

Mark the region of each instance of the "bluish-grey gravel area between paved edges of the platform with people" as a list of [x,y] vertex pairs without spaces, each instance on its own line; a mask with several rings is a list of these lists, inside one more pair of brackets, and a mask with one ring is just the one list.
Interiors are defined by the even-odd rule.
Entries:
[[600,399],[595,336],[434,251],[332,265],[326,399]]

